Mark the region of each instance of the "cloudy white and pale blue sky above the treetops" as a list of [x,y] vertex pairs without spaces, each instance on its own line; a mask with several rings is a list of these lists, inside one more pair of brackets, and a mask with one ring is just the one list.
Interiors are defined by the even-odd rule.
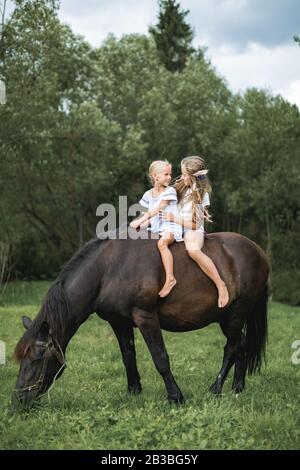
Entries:
[[[267,88],[300,107],[300,0],[179,0],[194,45],[234,91]],[[108,33],[147,33],[157,0],[61,0],[60,18],[99,46]]]

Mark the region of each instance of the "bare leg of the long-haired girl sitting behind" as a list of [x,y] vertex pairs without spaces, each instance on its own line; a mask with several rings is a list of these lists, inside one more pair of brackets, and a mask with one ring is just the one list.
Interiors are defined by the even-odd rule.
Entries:
[[215,283],[218,289],[218,306],[225,307],[229,301],[229,294],[225,282],[221,279],[214,262],[201,251],[203,236],[195,231],[187,232],[184,236],[189,256],[198,264],[203,272]]

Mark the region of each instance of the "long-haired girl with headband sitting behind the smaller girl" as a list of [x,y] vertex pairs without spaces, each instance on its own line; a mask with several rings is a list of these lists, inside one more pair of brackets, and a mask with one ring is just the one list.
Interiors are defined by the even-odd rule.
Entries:
[[204,220],[210,221],[207,207],[210,205],[211,186],[207,177],[205,161],[198,156],[181,161],[181,177],[175,183],[178,197],[179,217],[162,212],[163,220],[183,227],[183,238],[189,256],[198,264],[218,289],[218,306],[225,307],[229,301],[228,290],[214,262],[202,252],[204,243]]

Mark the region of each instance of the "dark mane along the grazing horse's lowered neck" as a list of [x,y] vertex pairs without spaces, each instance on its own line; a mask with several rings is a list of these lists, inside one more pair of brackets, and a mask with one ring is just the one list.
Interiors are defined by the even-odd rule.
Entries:
[[45,321],[49,325],[50,333],[55,336],[58,342],[61,341],[70,315],[64,283],[69,276],[77,271],[82,261],[98,249],[101,243],[102,240],[98,238],[90,240],[65,264],[56,281],[45,295],[38,315],[16,346],[14,356],[17,361],[21,361],[28,353],[37,339],[41,325]]

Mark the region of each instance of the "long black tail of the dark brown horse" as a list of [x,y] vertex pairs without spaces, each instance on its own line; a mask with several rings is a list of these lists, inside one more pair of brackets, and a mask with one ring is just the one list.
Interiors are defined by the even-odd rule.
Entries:
[[248,374],[260,372],[262,361],[265,362],[265,348],[268,336],[268,285],[246,320],[246,354]]

